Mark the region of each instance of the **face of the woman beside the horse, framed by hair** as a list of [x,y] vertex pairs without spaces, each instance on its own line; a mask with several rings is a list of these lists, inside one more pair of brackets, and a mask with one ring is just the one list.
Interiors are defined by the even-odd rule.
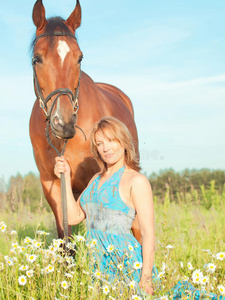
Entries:
[[98,153],[101,159],[109,166],[117,162],[124,164],[125,149],[124,147],[114,138],[110,138],[110,135],[104,135],[101,131],[95,133],[95,141],[97,145]]

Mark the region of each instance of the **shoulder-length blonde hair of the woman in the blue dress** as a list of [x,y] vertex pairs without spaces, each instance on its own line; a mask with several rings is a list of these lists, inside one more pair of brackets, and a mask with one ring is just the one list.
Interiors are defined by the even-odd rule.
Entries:
[[96,132],[102,132],[104,136],[115,139],[125,149],[125,163],[128,167],[135,171],[140,171],[139,154],[135,149],[135,143],[130,134],[130,131],[121,121],[113,117],[104,117],[99,122],[95,123],[91,132],[91,152],[94,159],[100,167],[100,174],[103,175],[107,170],[106,163],[100,157],[95,140]]

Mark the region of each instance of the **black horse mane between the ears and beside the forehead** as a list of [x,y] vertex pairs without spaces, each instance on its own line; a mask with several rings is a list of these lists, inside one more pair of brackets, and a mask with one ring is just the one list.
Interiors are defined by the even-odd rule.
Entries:
[[[45,26],[45,31],[44,33],[46,33],[48,36],[47,38],[49,39],[49,47],[53,47],[55,44],[55,39],[53,39],[54,33],[56,31],[61,32],[62,34],[72,34],[71,30],[68,28],[68,26],[64,23],[65,20],[61,17],[53,17],[53,18],[49,18],[47,25]],[[31,42],[31,46],[30,46],[30,50],[33,54],[34,51],[34,46],[36,44],[36,34],[34,35],[32,42]]]

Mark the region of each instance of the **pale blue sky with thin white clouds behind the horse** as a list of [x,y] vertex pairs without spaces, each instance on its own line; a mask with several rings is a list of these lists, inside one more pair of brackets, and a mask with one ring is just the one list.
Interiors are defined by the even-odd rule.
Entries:
[[[38,174],[29,138],[35,101],[35,1],[0,10],[0,179]],[[43,0],[67,19],[75,0]],[[80,0],[82,70],[132,100],[143,172],[225,166],[225,1]]]

